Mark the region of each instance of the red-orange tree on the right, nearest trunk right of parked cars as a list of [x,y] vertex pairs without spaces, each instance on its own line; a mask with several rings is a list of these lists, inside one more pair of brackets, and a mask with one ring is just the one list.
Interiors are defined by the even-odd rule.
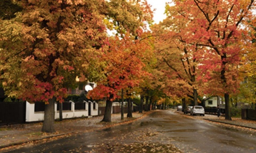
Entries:
[[205,73],[203,77],[206,80],[216,79],[219,94],[223,93],[225,97],[225,119],[231,120],[229,95],[237,89],[240,82],[237,79],[237,65],[243,43],[246,43],[243,36],[247,35],[246,28],[242,25],[245,25],[243,22],[246,18],[250,18],[255,2],[191,0],[174,3],[170,9],[177,12],[177,15],[171,18],[187,23],[181,29],[185,31],[183,37],[186,42],[206,47],[201,52],[204,60],[201,69],[212,69],[209,75]]

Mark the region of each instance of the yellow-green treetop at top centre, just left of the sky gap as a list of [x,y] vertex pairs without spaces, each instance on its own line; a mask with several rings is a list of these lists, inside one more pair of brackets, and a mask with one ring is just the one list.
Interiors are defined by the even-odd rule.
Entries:
[[107,28],[115,31],[118,37],[123,37],[129,31],[138,38],[138,33],[153,22],[153,11],[146,0],[112,0],[106,3],[106,9],[102,12],[106,15],[104,22]]

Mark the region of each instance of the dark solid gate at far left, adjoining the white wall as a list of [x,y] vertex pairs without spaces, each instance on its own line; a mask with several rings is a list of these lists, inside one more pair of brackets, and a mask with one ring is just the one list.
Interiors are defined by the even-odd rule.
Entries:
[[26,102],[0,102],[0,125],[26,122]]

